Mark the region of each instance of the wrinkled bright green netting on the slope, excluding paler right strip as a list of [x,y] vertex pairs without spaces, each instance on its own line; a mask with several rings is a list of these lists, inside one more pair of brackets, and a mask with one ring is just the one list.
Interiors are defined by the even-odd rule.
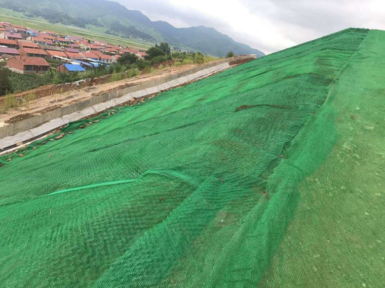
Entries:
[[275,53],[2,158],[1,286],[256,287],[298,183],[337,140],[322,105],[367,35]]

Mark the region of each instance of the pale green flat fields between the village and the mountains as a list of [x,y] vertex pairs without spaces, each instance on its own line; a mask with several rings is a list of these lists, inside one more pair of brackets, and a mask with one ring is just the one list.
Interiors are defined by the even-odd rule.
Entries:
[[10,22],[16,25],[23,25],[28,28],[37,29],[40,31],[49,30],[63,33],[65,35],[77,35],[90,40],[103,40],[110,44],[117,44],[122,46],[127,45],[144,50],[154,46],[154,43],[143,43],[106,34],[106,28],[103,27],[89,26],[87,29],[83,29],[62,24],[52,24],[42,18],[26,17],[23,13],[15,12],[5,8],[0,8],[0,21]]

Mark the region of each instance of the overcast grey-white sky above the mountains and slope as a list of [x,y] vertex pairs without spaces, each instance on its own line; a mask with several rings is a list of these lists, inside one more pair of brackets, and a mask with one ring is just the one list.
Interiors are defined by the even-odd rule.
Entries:
[[348,27],[385,30],[384,0],[117,0],[175,27],[214,27],[265,53]]

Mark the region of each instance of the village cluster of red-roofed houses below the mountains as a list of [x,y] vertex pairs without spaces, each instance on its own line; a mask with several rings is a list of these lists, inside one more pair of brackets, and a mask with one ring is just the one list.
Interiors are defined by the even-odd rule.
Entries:
[[138,58],[146,56],[145,52],[132,47],[0,22],[0,62],[6,62],[6,66],[17,73],[44,73],[50,69],[48,58],[62,62],[56,67],[60,72],[81,72],[114,63],[129,53]]

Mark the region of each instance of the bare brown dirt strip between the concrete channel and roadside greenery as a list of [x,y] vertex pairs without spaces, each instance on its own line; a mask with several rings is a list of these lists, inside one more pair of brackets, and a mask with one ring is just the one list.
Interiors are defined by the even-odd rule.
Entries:
[[173,66],[162,69],[152,74],[143,74],[138,75],[129,79],[123,79],[119,81],[109,82],[100,85],[94,85],[91,87],[85,87],[78,90],[72,90],[64,93],[48,95],[41,97],[35,100],[32,100],[28,103],[25,103],[18,107],[17,109],[10,109],[6,114],[0,114],[0,127],[9,124],[15,123],[24,119],[31,118],[36,115],[40,115],[44,112],[67,106],[79,101],[84,101],[93,96],[106,93],[108,91],[113,91],[116,89],[122,89],[129,86],[137,85],[139,83],[153,80],[164,75],[172,75],[181,71],[198,66],[198,64],[189,64],[183,66]]

